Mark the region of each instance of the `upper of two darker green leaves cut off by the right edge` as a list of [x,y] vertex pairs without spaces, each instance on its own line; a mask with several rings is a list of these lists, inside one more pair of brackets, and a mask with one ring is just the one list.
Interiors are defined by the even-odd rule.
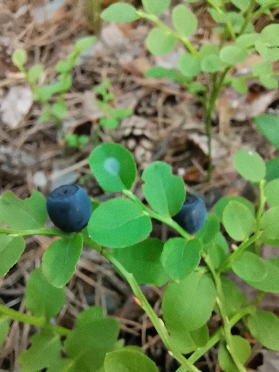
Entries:
[[279,118],[271,114],[263,114],[254,118],[254,122],[262,135],[279,149]]

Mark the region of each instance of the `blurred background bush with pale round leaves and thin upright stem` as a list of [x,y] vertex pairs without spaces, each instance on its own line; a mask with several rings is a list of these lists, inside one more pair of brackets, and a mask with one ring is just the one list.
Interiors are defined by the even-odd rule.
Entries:
[[[196,0],[185,0],[195,3]],[[212,113],[216,100],[224,86],[232,85],[239,93],[247,92],[247,81],[259,78],[264,87],[276,89],[279,73],[273,71],[272,62],[279,59],[279,24],[266,26],[260,33],[255,32],[253,20],[266,14],[273,19],[270,9],[279,6],[278,0],[206,0],[208,12],[218,24],[215,32],[219,34],[219,44],[194,46],[190,38],[198,26],[196,16],[188,5],[179,4],[171,12],[173,28],[161,22],[160,15],[170,6],[170,0],[142,0],[143,10],[131,4],[115,3],[105,9],[102,19],[107,22],[132,22],[147,19],[155,27],[148,34],[146,45],[153,55],[171,52],[177,41],[185,46],[178,68],[154,66],[146,72],[147,77],[166,78],[179,82],[201,102],[208,136],[208,176],[212,171],[211,138]],[[230,5],[230,11],[227,10]],[[232,67],[246,60],[248,55],[257,51],[263,61],[256,62],[251,75],[234,77]],[[204,74],[206,79],[199,79]],[[201,83],[203,81],[204,83]]]

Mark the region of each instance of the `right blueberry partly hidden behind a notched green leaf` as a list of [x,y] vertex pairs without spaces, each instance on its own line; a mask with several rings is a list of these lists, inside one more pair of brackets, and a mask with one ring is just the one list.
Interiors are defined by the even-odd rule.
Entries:
[[173,219],[189,234],[194,234],[205,224],[205,203],[198,196],[187,194],[182,208]]

